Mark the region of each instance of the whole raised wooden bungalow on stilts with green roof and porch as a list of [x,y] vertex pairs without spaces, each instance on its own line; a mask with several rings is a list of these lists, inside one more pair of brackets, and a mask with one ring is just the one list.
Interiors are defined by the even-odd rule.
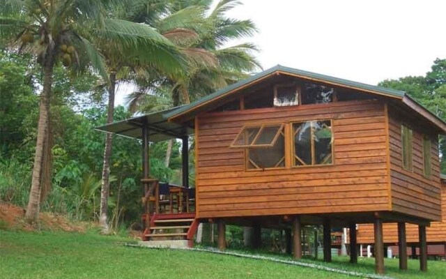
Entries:
[[[383,273],[383,223],[402,224],[400,243],[403,224],[413,223],[426,270],[426,226],[441,218],[438,135],[446,123],[402,91],[275,66],[194,103],[98,130],[143,142],[144,240],[192,243],[198,223],[213,222],[224,249],[226,224],[289,229],[300,258],[302,226],[323,225],[330,262],[332,227],[373,223],[376,271]],[[192,134],[195,204],[187,212]],[[169,188],[170,209],[162,212],[148,148],[169,138],[183,140],[183,186]]]

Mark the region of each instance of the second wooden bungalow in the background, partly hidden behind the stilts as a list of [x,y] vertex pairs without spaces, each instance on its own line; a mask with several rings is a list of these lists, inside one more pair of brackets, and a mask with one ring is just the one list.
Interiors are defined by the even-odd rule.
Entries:
[[[441,176],[442,186],[442,220],[441,222],[432,222],[426,228],[427,255],[435,257],[443,257],[446,259],[446,176]],[[401,254],[398,246],[398,224],[383,224],[383,242],[385,246],[392,250],[392,255],[399,256]],[[418,227],[413,224],[406,226],[406,253],[413,258],[420,255],[420,242],[418,235]],[[372,225],[357,225],[357,244],[362,248],[373,246],[374,229]]]

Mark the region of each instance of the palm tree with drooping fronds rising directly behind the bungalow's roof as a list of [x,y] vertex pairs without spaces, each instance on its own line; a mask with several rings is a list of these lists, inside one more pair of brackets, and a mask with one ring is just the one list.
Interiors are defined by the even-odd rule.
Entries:
[[[231,41],[252,36],[257,31],[250,20],[235,20],[226,17],[225,13],[236,8],[240,2],[221,0],[213,9],[211,4],[212,1],[206,0],[172,1],[169,12],[164,10],[164,13],[168,13],[169,16],[158,21],[149,17],[144,10],[138,14],[138,19],[150,20],[167,38],[171,38],[169,34],[175,34],[178,29],[190,29],[197,33],[198,37],[195,40],[171,38],[187,54],[189,59],[187,71],[176,73],[174,76],[161,77],[157,82],[140,83],[139,90],[127,99],[133,110],[143,112],[153,110],[153,98],[157,96],[153,90],[154,84],[162,87],[162,91],[165,91],[166,87],[170,88],[171,106],[176,107],[180,103],[190,103],[191,99],[206,96],[216,89],[246,77],[247,73],[261,68],[260,63],[252,55],[252,52],[257,51],[255,45],[242,43],[226,47]],[[195,10],[196,13],[201,11],[203,17],[195,15],[176,20],[180,15],[186,14],[187,10]],[[171,141],[167,146],[165,160],[167,167],[172,145]]]

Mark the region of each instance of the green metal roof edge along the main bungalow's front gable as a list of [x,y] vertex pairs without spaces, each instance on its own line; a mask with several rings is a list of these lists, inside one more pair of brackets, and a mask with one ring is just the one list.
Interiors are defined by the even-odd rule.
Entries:
[[284,67],[281,65],[274,66],[272,68],[269,68],[268,70],[264,70],[261,73],[257,73],[256,75],[252,75],[250,77],[247,77],[245,80],[240,80],[239,82],[236,82],[235,84],[231,84],[229,86],[224,87],[223,89],[220,89],[218,91],[215,91],[214,93],[203,97],[193,103],[183,105],[182,107],[178,107],[178,109],[173,110],[171,112],[168,112],[165,114],[165,116],[169,119],[175,118],[176,116],[179,116],[180,114],[184,114],[185,112],[193,111],[196,107],[199,107],[200,105],[203,105],[204,103],[208,103],[211,100],[217,100],[218,98],[224,96],[226,93],[229,93],[230,91],[233,91],[237,89],[238,87],[244,86],[246,84],[255,82],[256,80],[259,80],[263,77],[266,77],[268,75],[272,75],[276,72],[282,72],[282,73],[289,73],[290,75],[298,75],[302,78],[307,78],[309,80],[318,80],[320,82],[330,82],[332,84],[337,84],[339,86],[347,86],[347,87],[353,87],[355,89],[362,89],[364,91],[372,91],[384,96],[394,97],[394,98],[403,98],[405,95],[405,92],[398,91],[394,89],[385,88],[382,86],[374,86],[370,84],[364,84],[361,82],[353,82],[351,80],[344,80],[338,77],[330,77],[328,75],[321,75],[317,73],[308,72],[306,70],[298,70],[295,68],[289,68]]

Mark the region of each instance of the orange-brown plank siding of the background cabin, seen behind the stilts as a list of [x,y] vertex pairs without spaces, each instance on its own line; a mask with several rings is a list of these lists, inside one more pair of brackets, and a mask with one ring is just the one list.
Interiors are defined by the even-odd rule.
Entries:
[[[446,183],[442,183],[442,220],[441,222],[432,222],[430,227],[427,227],[427,242],[446,242]],[[397,224],[386,223],[383,225],[384,242],[398,243]],[[418,242],[418,226],[413,224],[406,225],[406,238],[408,243]],[[371,224],[360,224],[357,227],[357,243],[358,244],[372,244],[374,243],[374,226]]]

